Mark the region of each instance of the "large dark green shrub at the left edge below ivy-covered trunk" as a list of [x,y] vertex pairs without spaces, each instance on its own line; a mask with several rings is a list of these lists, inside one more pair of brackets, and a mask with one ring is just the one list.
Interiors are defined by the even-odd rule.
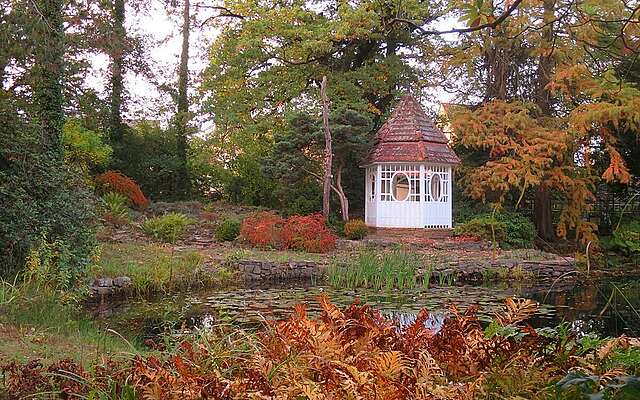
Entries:
[[[1,97],[1,96],[0,96]],[[46,237],[80,276],[95,247],[95,198],[82,174],[43,152],[43,128],[0,98],[0,276],[13,279]]]

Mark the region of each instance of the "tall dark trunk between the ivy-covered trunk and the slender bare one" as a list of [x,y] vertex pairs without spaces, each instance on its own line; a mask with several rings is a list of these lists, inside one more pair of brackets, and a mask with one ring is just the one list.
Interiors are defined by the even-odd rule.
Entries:
[[[122,124],[122,96],[124,92],[124,56],[127,32],[124,27],[125,0],[113,0],[111,17],[113,23],[113,37],[111,40],[111,109],[109,113],[109,136],[114,150],[119,150],[124,136]],[[117,155],[116,155],[117,157]]]

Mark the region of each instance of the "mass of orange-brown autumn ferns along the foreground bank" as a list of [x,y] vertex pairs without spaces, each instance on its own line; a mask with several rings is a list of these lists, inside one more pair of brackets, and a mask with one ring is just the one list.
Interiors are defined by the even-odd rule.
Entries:
[[48,368],[11,363],[2,367],[5,386],[10,399],[63,392],[64,398],[458,400],[510,397],[497,384],[502,380],[518,398],[551,398],[550,384],[577,365],[613,376],[607,357],[631,345],[619,338],[585,351],[571,336],[539,335],[523,322],[537,310],[530,300],[508,299],[486,330],[475,307],[464,313],[451,307],[437,332],[426,326],[425,310],[400,327],[357,301],[341,310],[323,296],[320,305],[315,319],[298,305],[288,320],[268,322],[255,336],[210,332],[175,351],[102,360],[92,372],[68,360]]

